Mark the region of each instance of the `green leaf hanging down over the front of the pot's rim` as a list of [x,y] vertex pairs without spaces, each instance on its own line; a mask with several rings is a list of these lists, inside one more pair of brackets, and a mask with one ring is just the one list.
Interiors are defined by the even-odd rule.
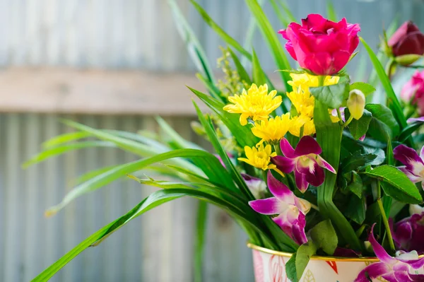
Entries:
[[295,254],[293,254],[285,264],[287,277],[292,282],[300,281],[303,271],[305,271],[310,258],[317,253],[317,247],[313,242],[307,242],[301,245]]

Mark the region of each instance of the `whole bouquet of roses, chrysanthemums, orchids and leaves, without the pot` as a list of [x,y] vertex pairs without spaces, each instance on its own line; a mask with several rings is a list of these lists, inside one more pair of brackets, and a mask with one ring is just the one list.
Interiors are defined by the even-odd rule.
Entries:
[[[193,196],[227,211],[244,228],[251,245],[292,253],[285,264],[291,281],[300,280],[314,255],[377,257],[355,281],[423,281],[424,258],[419,254],[424,253],[420,240],[424,210],[419,206],[423,203],[419,182],[424,178],[424,151],[418,154],[416,149],[423,140],[424,119],[419,115],[424,79],[423,74],[415,74],[399,101],[390,78],[396,67],[420,59],[424,35],[413,23],[405,23],[390,40],[384,36],[382,49],[389,58],[385,71],[382,57],[358,36],[358,24],[310,14],[300,24],[283,23],[286,27],[278,32],[300,66],[292,69],[261,6],[256,0],[246,2],[285,90],[273,86],[254,50],[249,52],[232,39],[193,1],[206,23],[229,45],[219,61],[225,79],[217,82],[189,25],[171,2],[179,30],[198,63],[198,77],[208,90],[205,94],[189,88],[211,109],[204,114],[194,102],[200,123],[193,127],[211,142],[215,154],[182,139],[163,119],[158,119],[160,126],[172,136],[164,143],[143,132],[100,130],[65,121],[78,131],[52,139],[28,164],[52,152],[64,153],[67,150],[60,148],[69,148],[69,142],[83,144],[86,137],[143,158],[91,172],[47,215],[126,175],[162,189],[81,242],[37,279],[50,278],[83,249],[151,208]],[[375,86],[351,81],[346,72],[360,41],[374,66],[373,75],[382,83],[386,105],[366,102]],[[249,62],[252,75],[237,52]],[[145,168],[174,180],[136,177]]]

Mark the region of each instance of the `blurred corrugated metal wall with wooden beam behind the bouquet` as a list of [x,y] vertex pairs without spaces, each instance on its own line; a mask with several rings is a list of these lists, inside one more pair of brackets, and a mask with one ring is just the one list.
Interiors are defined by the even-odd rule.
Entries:
[[[326,13],[324,0],[286,2],[299,20]],[[223,42],[188,0],[177,4],[216,66]],[[250,15],[243,0],[199,4],[245,42]],[[334,7],[338,18],[360,23],[360,35],[375,49],[396,16],[424,29],[423,0],[337,0]],[[279,30],[267,0],[264,10]],[[259,31],[252,42],[272,77],[276,66]],[[351,68],[360,61],[355,58]],[[22,170],[43,141],[72,130],[59,118],[160,133],[159,114],[182,136],[207,146],[189,126],[195,117],[184,85],[202,86],[166,0],[0,0],[0,66],[0,281],[30,281],[154,190],[119,180],[45,218],[45,209],[59,203],[78,175],[136,158],[88,148]],[[367,64],[360,69],[357,79],[366,78]],[[149,211],[80,254],[52,281],[192,281],[196,205],[179,199]],[[209,211],[204,281],[253,281],[245,235],[223,211]]]

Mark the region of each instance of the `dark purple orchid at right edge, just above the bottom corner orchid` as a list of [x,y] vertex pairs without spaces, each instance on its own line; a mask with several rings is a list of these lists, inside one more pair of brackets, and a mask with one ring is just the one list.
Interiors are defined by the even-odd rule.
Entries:
[[395,225],[390,220],[390,229],[396,247],[406,252],[415,250],[418,254],[424,253],[424,213],[413,214]]

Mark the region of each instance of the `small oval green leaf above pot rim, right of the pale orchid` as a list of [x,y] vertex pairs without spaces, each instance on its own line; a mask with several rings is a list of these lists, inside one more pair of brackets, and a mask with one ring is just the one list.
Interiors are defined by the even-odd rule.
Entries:
[[[311,231],[310,235],[312,242],[318,249],[322,249],[326,254],[330,256],[334,254],[338,244],[338,238],[336,230],[334,230],[331,221],[327,219],[326,221],[321,221],[315,225]],[[302,246],[301,246],[302,247]],[[300,248],[299,248],[300,249]]]

